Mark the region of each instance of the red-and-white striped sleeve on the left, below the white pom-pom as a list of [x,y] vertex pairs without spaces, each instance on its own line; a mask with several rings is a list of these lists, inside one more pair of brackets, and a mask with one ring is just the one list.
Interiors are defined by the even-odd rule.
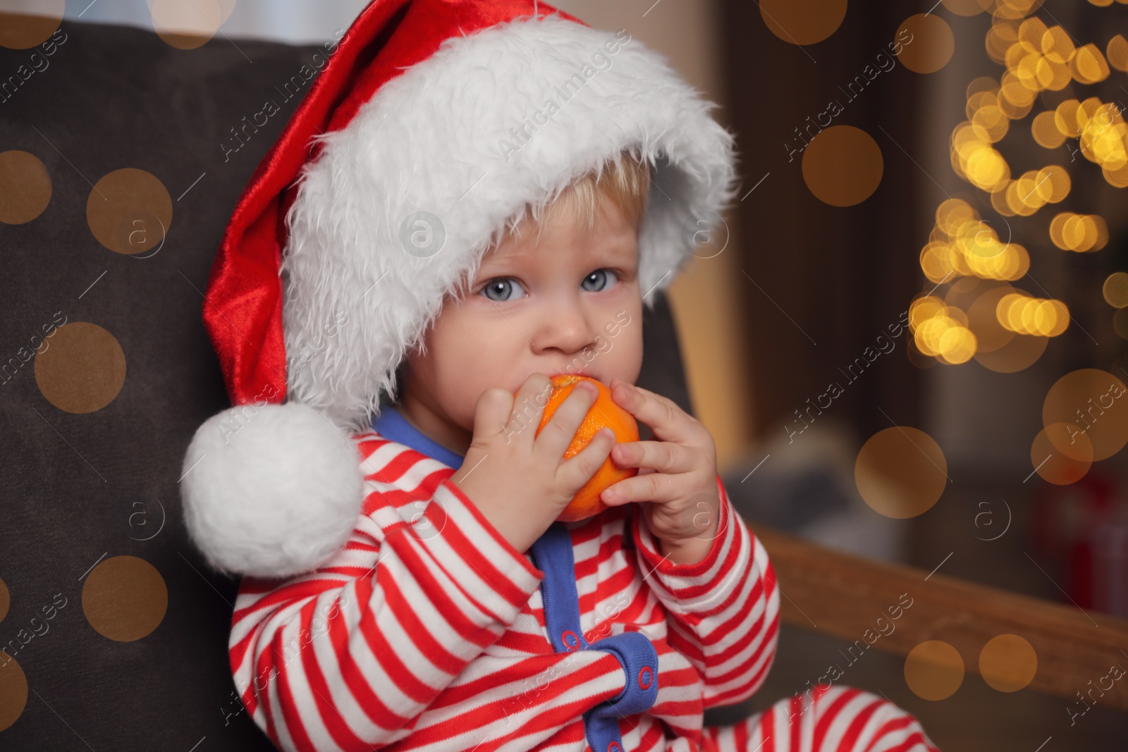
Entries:
[[544,577],[449,468],[394,442],[369,451],[346,547],[316,572],[239,587],[231,671],[283,750],[371,751],[407,736]]

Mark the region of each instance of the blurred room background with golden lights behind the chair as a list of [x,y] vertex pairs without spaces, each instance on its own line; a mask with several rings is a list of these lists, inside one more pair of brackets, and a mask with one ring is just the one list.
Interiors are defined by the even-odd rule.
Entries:
[[[192,50],[321,44],[365,5],[0,10]],[[556,7],[664,53],[737,134],[739,202],[669,297],[695,414],[754,530],[1128,618],[1128,5]],[[785,628],[765,689],[715,719],[803,689],[840,647]],[[883,654],[852,671],[943,749],[1033,750],[1068,719],[978,676],[915,696]],[[1126,716],[1102,711],[1047,750],[1123,749]]]

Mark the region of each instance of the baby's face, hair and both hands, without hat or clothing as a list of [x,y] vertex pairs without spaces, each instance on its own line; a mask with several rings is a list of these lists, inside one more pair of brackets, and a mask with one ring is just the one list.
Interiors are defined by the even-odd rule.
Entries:
[[[423,340],[425,354],[408,356],[400,410],[414,428],[465,455],[452,483],[517,551],[544,533],[611,453],[619,467],[661,475],[620,481],[602,501],[646,501],[662,556],[696,564],[719,519],[712,436],[671,400],[632,386],[642,368],[638,225],[647,170],[625,154],[601,177],[571,185],[535,237],[526,237],[536,221],[530,210],[485,254],[470,294],[448,298]],[[617,336],[605,348],[611,327]],[[616,401],[664,441],[615,445],[603,428],[562,463],[594,401],[593,386],[581,382],[536,439],[522,428],[539,424],[548,375],[565,372],[610,386]]]

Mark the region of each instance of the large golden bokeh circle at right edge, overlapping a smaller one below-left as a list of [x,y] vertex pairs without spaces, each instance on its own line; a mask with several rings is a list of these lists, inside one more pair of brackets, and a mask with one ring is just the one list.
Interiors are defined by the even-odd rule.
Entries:
[[[1105,460],[1128,443],[1128,399],[1120,379],[1100,369],[1078,369],[1058,379],[1042,402],[1042,425],[1074,424],[1093,445],[1093,461]],[[1061,452],[1069,452],[1076,435],[1068,443],[1048,437]]]

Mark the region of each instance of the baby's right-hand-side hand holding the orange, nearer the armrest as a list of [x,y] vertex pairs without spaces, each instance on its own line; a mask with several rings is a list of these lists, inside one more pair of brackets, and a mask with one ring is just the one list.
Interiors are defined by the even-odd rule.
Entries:
[[708,428],[676,402],[622,379],[608,384],[616,404],[651,427],[660,441],[617,443],[611,460],[638,475],[603,490],[608,506],[641,502],[660,549],[675,564],[697,564],[717,536],[716,445]]

